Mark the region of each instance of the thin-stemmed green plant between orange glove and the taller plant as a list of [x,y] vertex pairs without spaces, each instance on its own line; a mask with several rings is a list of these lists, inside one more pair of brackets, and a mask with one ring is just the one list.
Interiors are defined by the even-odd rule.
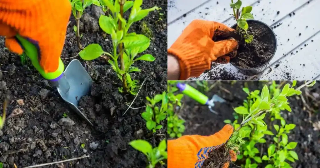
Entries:
[[77,45],[80,50],[82,50],[82,45],[80,44],[80,39],[82,38],[82,34],[80,34],[80,18],[84,14],[84,9],[91,4],[95,4],[100,6],[100,2],[98,0],[69,0],[72,7],[72,14],[76,19],[76,24],[73,26],[73,30],[76,33]]

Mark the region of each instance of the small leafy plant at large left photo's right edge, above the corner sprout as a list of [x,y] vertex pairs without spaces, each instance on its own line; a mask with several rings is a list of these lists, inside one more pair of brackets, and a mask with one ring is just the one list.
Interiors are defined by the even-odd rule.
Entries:
[[[148,130],[152,130],[152,132],[156,132],[162,128],[160,122],[167,117],[167,109],[168,109],[168,97],[167,93],[163,92],[162,94],[157,94],[153,99],[146,97],[148,100],[146,111],[141,114],[142,118],[144,118],[146,122],[146,126]],[[161,102],[161,107],[157,106],[158,102]],[[160,125],[159,125],[160,124]]]

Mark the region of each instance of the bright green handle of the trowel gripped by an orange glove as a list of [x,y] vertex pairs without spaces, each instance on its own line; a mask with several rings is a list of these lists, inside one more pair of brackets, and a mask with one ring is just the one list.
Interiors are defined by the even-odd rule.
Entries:
[[20,35],[16,35],[20,44],[24,48],[24,52],[30,58],[32,65],[39,71],[39,73],[47,80],[53,80],[58,78],[64,71],[64,65],[62,60],[59,58],[59,67],[55,72],[45,73],[43,68],[40,66],[38,61],[38,50],[34,44],[26,40]]

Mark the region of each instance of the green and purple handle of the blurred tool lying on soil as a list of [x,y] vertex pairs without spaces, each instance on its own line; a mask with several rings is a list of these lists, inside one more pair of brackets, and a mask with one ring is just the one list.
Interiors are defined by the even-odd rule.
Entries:
[[188,97],[196,100],[197,102],[199,102],[200,104],[208,104],[209,102],[209,98],[202,94],[201,92],[199,92],[198,90],[196,90],[195,88],[193,88],[192,86],[188,85],[188,84],[181,84],[178,83],[177,87],[180,89],[180,91],[187,95]]

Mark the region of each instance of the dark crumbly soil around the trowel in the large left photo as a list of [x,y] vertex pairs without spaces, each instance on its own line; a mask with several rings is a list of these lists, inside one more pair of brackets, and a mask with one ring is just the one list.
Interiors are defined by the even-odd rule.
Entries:
[[[0,74],[0,97],[3,99],[5,93],[11,92],[12,101],[8,113],[17,111],[13,110],[16,108],[23,111],[6,120],[4,128],[0,130],[0,151],[3,155],[0,156],[0,162],[4,162],[4,167],[13,167],[14,163],[18,167],[25,167],[83,155],[90,157],[45,167],[146,167],[146,156],[128,143],[144,139],[155,147],[166,135],[166,121],[161,130],[152,134],[141,117],[144,108],[139,108],[145,106],[146,96],[151,97],[167,89],[167,5],[161,0],[145,0],[142,8],[155,5],[163,9],[160,11],[164,13],[163,21],[155,24],[159,19],[158,12],[151,12],[143,20],[153,32],[146,53],[152,54],[156,60],[135,63],[134,66],[139,67],[142,72],[133,73],[132,78],[140,81],[140,85],[147,79],[132,104],[132,108],[138,109],[129,109],[125,115],[127,104],[131,104],[134,96],[118,92],[121,82],[105,59],[83,61],[75,57],[78,53],[73,31],[75,21],[73,16],[70,18],[61,59],[65,66],[72,60],[71,57],[79,59],[92,76],[92,91],[80,100],[79,108],[89,114],[95,127],[76,115],[60,98],[57,89],[48,84],[31,65],[23,66],[19,56],[4,50],[4,38],[0,37],[0,69],[9,72]],[[80,24],[83,33],[81,43],[83,46],[98,43],[105,51],[111,52],[111,37],[106,36],[99,28],[101,11],[97,9],[95,6],[86,9]],[[141,22],[135,23],[131,30],[142,34],[140,24]],[[20,99],[24,101],[23,104]],[[64,113],[68,117],[62,119]],[[85,144],[85,147],[81,148],[81,144]]]

